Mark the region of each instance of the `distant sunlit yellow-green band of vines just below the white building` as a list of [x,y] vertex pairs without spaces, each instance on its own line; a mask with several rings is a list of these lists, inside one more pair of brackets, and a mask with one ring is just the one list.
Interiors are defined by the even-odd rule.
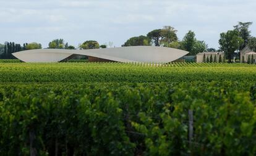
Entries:
[[256,65],[121,63],[0,64],[0,82],[256,81]]

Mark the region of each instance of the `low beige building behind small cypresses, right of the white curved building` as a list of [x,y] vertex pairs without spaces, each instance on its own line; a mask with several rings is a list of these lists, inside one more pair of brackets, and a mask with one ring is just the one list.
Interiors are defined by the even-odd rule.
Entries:
[[220,57],[221,57],[221,60],[223,61],[224,52],[200,52],[197,54],[197,63],[203,62],[203,55],[205,55],[205,61],[207,60],[207,57],[209,61],[210,61],[210,57],[212,57],[214,62],[214,58],[216,56],[216,62],[220,62]]

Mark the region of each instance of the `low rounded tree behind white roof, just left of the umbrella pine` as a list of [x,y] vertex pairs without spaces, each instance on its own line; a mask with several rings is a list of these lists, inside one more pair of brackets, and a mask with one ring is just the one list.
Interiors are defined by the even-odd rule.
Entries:
[[150,45],[150,39],[146,36],[137,36],[130,38],[122,45],[122,47],[127,46],[149,46]]

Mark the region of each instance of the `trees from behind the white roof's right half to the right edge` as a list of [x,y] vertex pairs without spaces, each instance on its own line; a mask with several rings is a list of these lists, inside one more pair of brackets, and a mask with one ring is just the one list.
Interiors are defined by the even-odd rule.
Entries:
[[[249,30],[252,22],[238,22],[233,30],[220,34],[220,49],[208,48],[205,41],[195,38],[195,33],[189,30],[184,38],[179,41],[177,30],[171,26],[165,26],[162,29],[150,31],[146,36],[135,36],[126,41],[122,46],[163,46],[173,47],[184,51],[189,51],[188,55],[196,55],[200,52],[224,52],[228,62],[231,62],[235,52],[240,55],[244,47],[248,46],[252,51],[256,51],[256,38],[251,36]],[[240,57],[239,57],[240,59]],[[205,60],[207,62],[207,60]],[[210,62],[210,59],[209,59]]]

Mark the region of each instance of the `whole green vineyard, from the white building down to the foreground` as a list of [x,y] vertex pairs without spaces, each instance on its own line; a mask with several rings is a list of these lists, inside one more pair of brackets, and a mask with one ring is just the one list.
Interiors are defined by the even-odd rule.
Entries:
[[255,81],[249,64],[0,63],[0,155],[255,155]]

